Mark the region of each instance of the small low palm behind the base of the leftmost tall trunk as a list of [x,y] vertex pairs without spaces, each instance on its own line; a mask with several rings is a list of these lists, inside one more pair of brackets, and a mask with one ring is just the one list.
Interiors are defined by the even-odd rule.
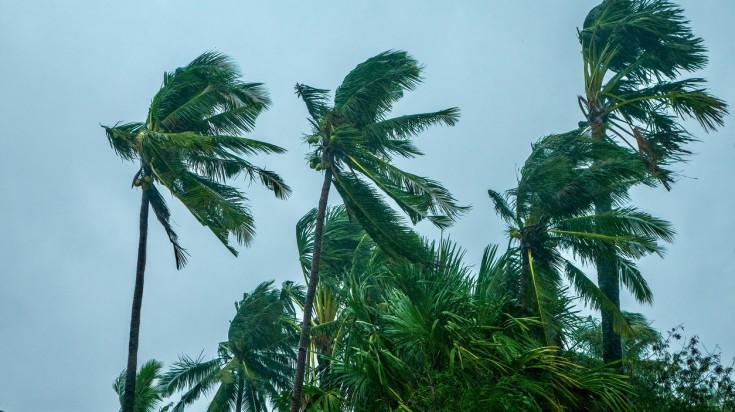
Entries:
[[[173,406],[172,403],[161,405],[165,395],[158,390],[158,382],[161,379],[161,370],[163,364],[155,359],[144,363],[135,377],[135,412],[168,412]],[[112,388],[120,398],[120,406],[123,404],[123,394],[125,393],[125,376],[126,371],[122,371],[115,378]]]

